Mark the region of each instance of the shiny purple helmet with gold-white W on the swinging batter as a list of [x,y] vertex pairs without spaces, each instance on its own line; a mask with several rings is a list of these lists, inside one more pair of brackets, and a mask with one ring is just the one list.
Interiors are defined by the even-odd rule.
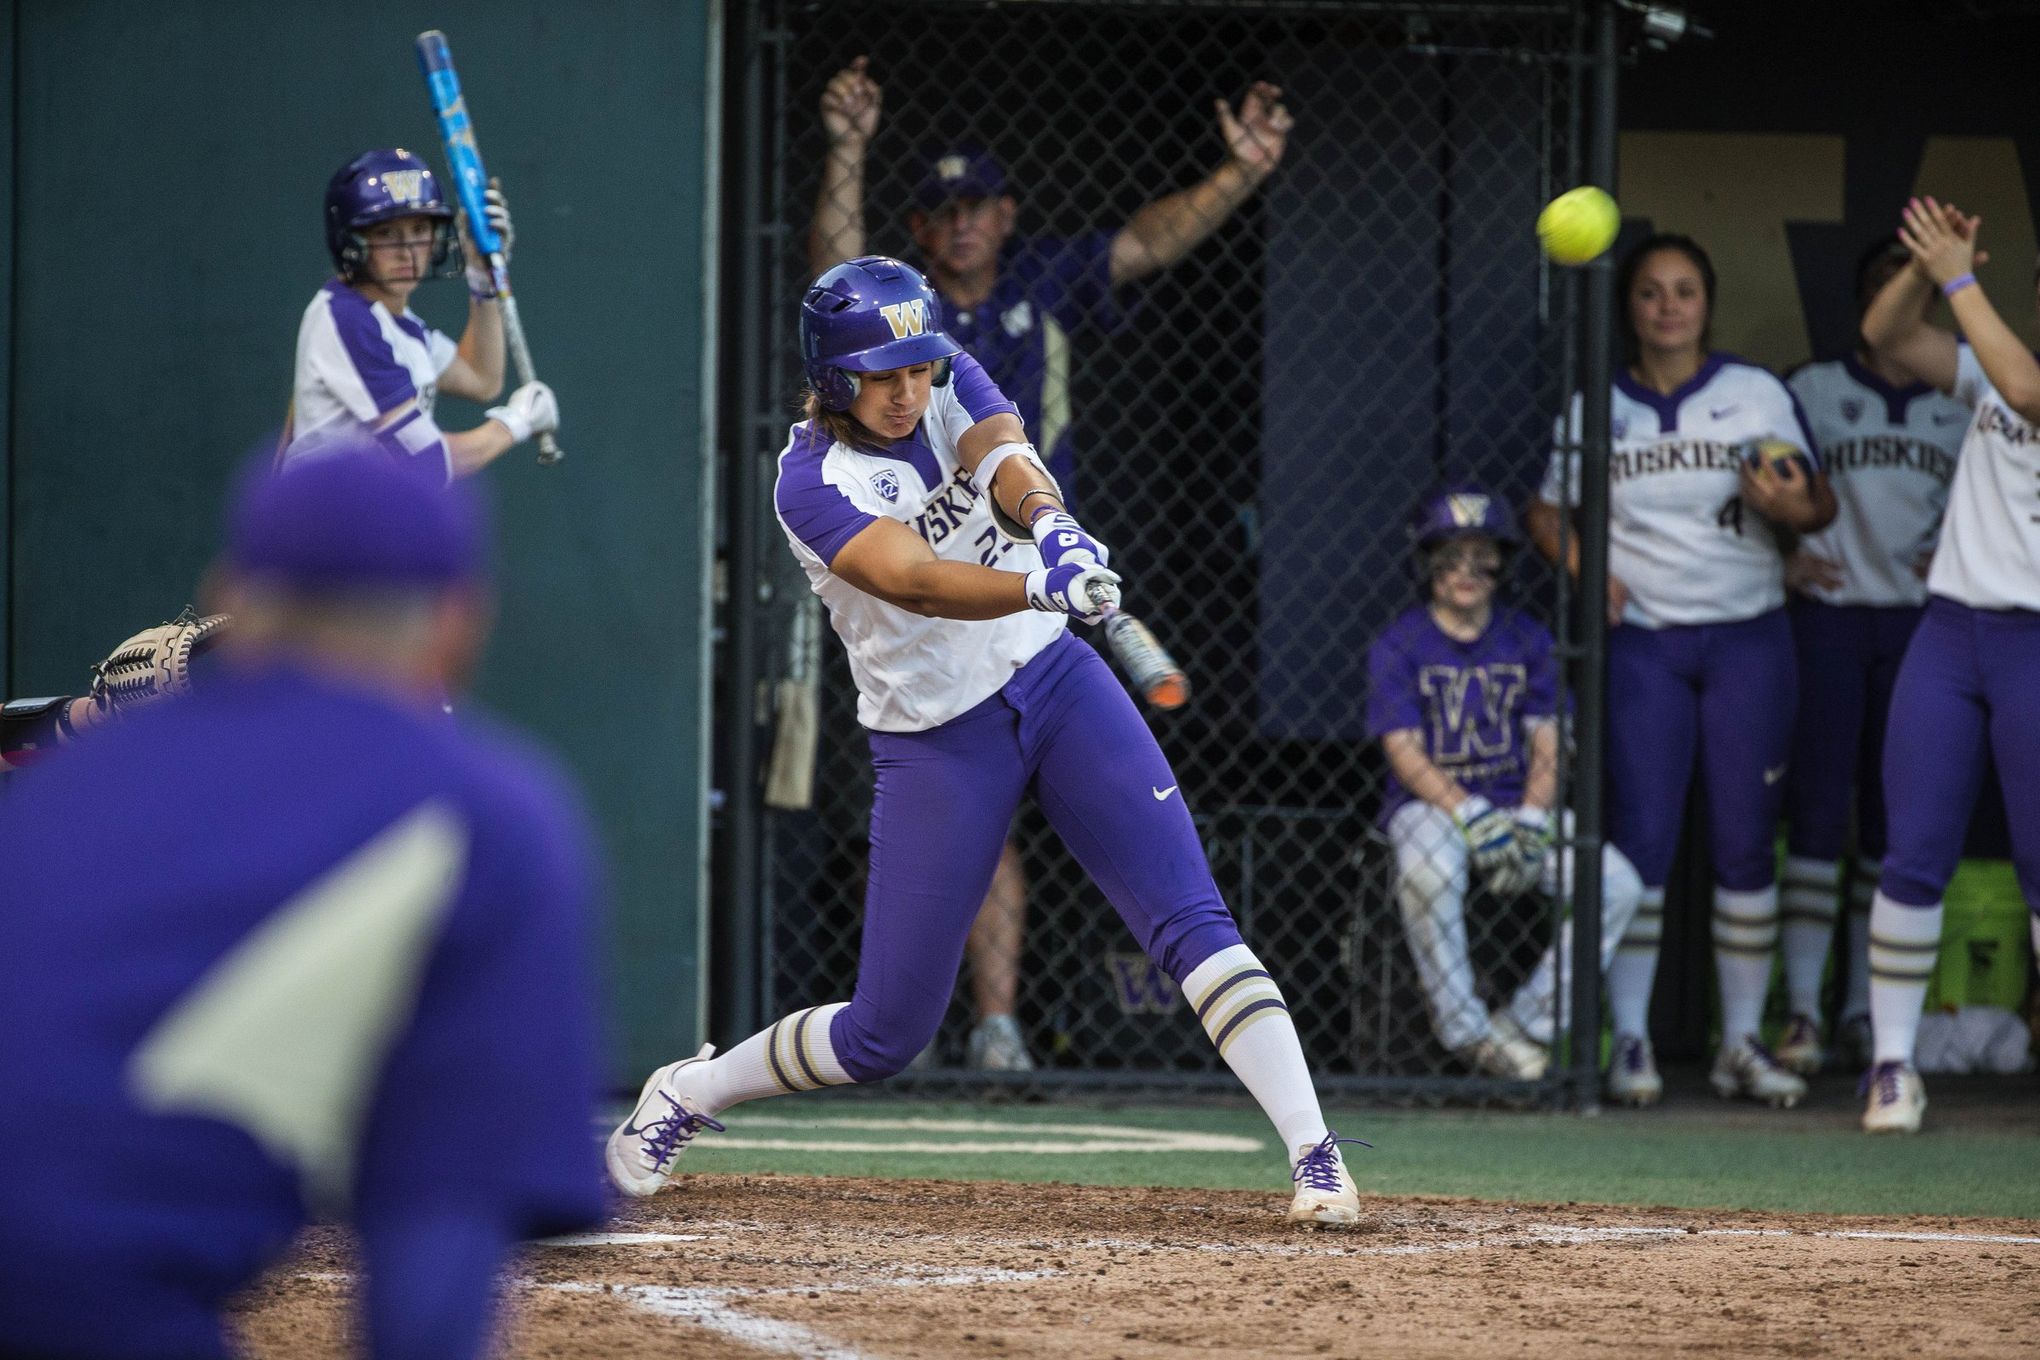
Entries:
[[859,373],[936,363],[934,381],[945,383],[942,361],[961,353],[928,279],[889,255],[836,265],[800,302],[800,359],[824,410],[849,410]]

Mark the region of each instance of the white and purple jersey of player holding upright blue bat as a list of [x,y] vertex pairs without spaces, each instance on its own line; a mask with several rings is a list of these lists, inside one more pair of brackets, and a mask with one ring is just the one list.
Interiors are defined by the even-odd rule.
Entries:
[[432,422],[439,375],[459,347],[404,308],[392,316],[347,283],[320,287],[298,324],[292,438],[284,459],[371,438],[396,457],[453,463]]

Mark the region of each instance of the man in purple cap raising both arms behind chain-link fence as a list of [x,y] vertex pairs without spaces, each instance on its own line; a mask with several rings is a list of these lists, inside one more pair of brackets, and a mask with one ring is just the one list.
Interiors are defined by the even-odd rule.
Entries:
[[[877,133],[881,98],[867,57],[836,71],[822,90],[828,157],[808,230],[808,265],[816,275],[865,253],[865,151]],[[1261,188],[1287,147],[1293,120],[1281,90],[1267,82],[1246,92],[1238,114],[1224,100],[1216,112],[1226,161],[1202,184],[1146,204],[1118,230],[1014,232],[1018,206],[1006,171],[975,147],[936,155],[916,188],[908,230],[920,267],[942,296],[949,334],[1020,410],[1071,504],[1081,491],[1071,334],[1116,326],[1122,314],[1114,290],[1183,259]],[[1024,924],[1026,871],[1008,838],[967,946],[977,1013],[973,1066],[1034,1066],[1014,1019]]]

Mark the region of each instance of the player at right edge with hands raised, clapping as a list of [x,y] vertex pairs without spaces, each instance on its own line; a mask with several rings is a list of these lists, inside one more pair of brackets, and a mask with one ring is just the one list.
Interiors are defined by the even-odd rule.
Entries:
[[[2020,889],[2040,909],[2040,363],[1977,283],[1977,228],[1932,198],[1905,204],[1899,241],[1911,263],[1863,318],[1873,353],[1973,410],[1885,734],[1889,844],[1871,905],[1875,1064],[1863,1111],[1873,1134],[1914,1134],[1926,1111],[1914,1038],[1985,742]],[[1936,287],[1967,345],[1926,322]]]

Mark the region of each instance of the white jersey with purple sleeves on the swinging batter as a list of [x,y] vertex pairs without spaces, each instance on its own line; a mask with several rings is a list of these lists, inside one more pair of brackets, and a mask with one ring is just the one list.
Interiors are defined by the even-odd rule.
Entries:
[[912,528],[945,561],[1020,575],[1038,569],[1040,551],[993,524],[989,502],[957,463],[965,430],[1012,410],[977,361],[957,355],[912,438],[875,453],[804,420],[779,453],[779,528],[851,655],[857,722],[875,732],[924,732],[975,708],[1069,626],[1063,614],[1034,610],[991,620],[924,618],[828,569],[843,544],[881,516]]

